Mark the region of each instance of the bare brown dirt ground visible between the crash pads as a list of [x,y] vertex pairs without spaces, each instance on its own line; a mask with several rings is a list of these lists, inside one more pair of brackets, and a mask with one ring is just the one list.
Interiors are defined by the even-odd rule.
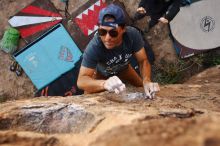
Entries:
[[[0,38],[2,38],[4,31],[9,27],[8,19],[10,16],[17,13],[23,7],[27,6],[33,0],[1,0],[0,1]],[[60,0],[51,0],[57,9],[63,10],[64,4]],[[86,1],[81,0],[70,0],[69,1],[69,12],[73,13],[78,7],[83,5]],[[122,0],[122,2],[124,2]],[[125,8],[128,14],[132,17],[134,15],[135,8],[137,7],[138,1],[131,0],[129,2],[125,1]],[[10,9],[8,9],[10,7]],[[63,12],[61,12],[63,14]],[[64,14],[63,14],[64,15]],[[144,28],[147,18],[138,21],[137,26],[141,29]],[[160,34],[160,35],[158,35]],[[158,24],[155,29],[152,29],[146,38],[151,43],[156,61],[161,58],[168,60],[169,62],[176,60],[176,53],[173,49],[172,43],[168,37],[167,26]],[[159,41],[158,41],[159,40]],[[163,40],[163,41],[162,41]],[[25,43],[21,40],[19,43],[19,48],[25,46]],[[17,77],[14,72],[9,70],[9,66],[12,64],[12,58],[9,54],[0,51],[0,98],[5,99],[21,99],[33,97],[34,92],[36,92],[35,87],[29,80],[29,78],[23,74],[21,77]]]

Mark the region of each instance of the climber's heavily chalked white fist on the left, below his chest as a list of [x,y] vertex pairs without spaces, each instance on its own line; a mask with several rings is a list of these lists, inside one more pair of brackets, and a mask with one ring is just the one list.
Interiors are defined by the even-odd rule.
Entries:
[[115,92],[116,94],[125,90],[125,84],[117,76],[108,78],[103,86],[107,91]]

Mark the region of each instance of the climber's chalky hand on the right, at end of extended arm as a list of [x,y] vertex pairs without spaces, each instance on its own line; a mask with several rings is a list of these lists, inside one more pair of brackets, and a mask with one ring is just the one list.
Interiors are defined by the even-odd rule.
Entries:
[[152,99],[154,98],[155,92],[160,91],[160,87],[158,83],[153,83],[153,82],[144,83],[144,91],[146,98]]

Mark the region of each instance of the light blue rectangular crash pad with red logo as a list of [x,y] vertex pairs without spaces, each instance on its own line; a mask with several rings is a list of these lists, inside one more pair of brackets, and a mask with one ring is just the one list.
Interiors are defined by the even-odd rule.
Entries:
[[14,54],[37,89],[42,89],[75,66],[82,55],[62,24]]

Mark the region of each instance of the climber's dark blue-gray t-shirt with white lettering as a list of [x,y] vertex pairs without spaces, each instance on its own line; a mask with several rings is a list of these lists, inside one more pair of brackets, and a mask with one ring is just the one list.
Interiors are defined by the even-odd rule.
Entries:
[[106,49],[96,33],[83,53],[82,66],[97,69],[106,77],[116,75],[128,66],[132,55],[142,47],[144,41],[134,27],[126,27],[122,44],[113,49]]

